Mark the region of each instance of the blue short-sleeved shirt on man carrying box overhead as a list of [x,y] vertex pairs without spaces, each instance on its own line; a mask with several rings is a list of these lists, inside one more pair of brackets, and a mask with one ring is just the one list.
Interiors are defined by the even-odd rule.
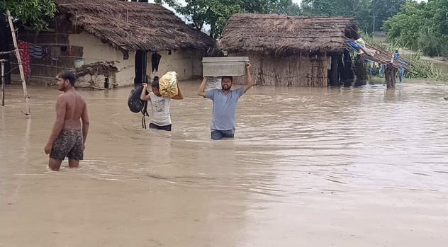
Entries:
[[227,95],[222,89],[206,91],[206,98],[213,100],[212,130],[235,130],[237,102],[243,94],[245,94],[244,86],[231,90]]

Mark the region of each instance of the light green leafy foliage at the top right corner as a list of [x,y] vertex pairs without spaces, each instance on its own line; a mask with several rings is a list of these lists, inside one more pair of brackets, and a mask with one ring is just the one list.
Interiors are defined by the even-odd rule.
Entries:
[[448,57],[448,0],[407,2],[384,23],[388,39],[429,56]]

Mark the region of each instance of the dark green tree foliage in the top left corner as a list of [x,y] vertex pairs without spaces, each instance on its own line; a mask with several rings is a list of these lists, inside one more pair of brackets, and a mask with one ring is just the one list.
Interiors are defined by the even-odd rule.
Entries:
[[48,28],[48,21],[55,17],[56,6],[51,0],[0,0],[0,11],[11,11],[11,16],[33,30]]

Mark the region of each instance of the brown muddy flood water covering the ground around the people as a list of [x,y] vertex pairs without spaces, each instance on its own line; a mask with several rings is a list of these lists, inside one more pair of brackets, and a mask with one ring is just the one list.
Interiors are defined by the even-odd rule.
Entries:
[[198,86],[181,82],[171,133],[142,130],[130,88],[80,90],[85,160],[60,172],[57,88],[28,88],[28,120],[7,86],[0,246],[447,246],[448,86],[255,86],[222,141]]

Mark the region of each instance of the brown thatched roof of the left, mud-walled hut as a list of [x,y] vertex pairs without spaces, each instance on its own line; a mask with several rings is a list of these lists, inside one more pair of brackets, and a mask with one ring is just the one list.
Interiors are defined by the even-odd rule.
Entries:
[[55,0],[60,13],[87,33],[127,51],[206,49],[213,40],[158,4],[117,0]]

